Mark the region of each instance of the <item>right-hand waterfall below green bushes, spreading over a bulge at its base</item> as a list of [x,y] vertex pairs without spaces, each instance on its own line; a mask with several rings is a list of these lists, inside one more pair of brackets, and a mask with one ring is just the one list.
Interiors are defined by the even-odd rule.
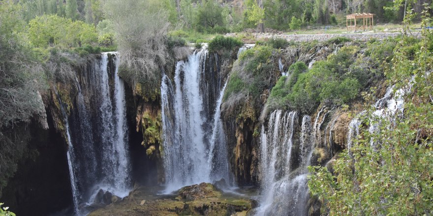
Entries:
[[294,133],[297,111],[276,110],[271,113],[268,129],[262,126],[260,135],[260,206],[258,216],[306,215],[309,198],[307,166],[312,156],[311,118],[304,116],[301,125],[301,165],[295,169]]

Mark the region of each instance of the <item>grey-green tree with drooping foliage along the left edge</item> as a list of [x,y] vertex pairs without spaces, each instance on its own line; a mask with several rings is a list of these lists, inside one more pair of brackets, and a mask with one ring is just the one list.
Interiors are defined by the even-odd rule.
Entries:
[[22,7],[0,1],[0,196],[25,153],[31,116],[42,114],[46,80],[37,55],[25,43]]

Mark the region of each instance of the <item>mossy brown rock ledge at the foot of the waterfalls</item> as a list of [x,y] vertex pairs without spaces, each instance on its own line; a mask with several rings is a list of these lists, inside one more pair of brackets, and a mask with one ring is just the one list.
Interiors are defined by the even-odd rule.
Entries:
[[253,206],[249,199],[225,197],[210,183],[184,187],[177,195],[150,199],[142,195],[144,190],[137,189],[124,200],[102,207],[89,216],[245,216]]

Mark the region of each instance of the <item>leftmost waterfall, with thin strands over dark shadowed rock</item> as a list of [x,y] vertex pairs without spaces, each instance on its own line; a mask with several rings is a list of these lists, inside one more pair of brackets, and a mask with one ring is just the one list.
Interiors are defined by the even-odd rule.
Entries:
[[[114,70],[108,70],[108,55],[113,56]],[[87,214],[86,206],[101,192],[119,197],[129,193],[124,83],[117,75],[118,66],[117,53],[103,53],[94,60],[82,79],[76,79],[77,108],[71,110],[70,121],[64,114],[76,215]]]

